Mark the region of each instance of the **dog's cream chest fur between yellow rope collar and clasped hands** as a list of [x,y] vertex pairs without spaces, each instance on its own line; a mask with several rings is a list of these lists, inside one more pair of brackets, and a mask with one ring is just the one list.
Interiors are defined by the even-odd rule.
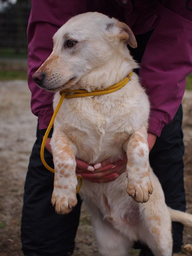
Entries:
[[[54,108],[59,98],[57,93]],[[121,158],[124,142],[147,123],[148,112],[147,96],[133,75],[133,81],[115,93],[65,99],[54,126],[68,136],[77,158],[94,164]]]

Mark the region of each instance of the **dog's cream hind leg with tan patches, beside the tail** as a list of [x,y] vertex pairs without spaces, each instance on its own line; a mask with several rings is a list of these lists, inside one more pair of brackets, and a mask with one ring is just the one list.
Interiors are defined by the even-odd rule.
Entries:
[[170,213],[165,204],[160,184],[158,186],[158,184],[153,183],[153,185],[154,191],[149,201],[140,205],[140,240],[148,245],[155,256],[171,256],[172,227]]

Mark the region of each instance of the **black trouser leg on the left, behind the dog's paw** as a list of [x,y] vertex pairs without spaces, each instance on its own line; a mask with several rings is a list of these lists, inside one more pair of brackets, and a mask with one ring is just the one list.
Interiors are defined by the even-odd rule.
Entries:
[[[21,218],[21,242],[24,255],[36,252],[43,256],[72,255],[79,224],[81,200],[73,211],[59,215],[51,204],[54,174],[42,164],[40,149],[42,134],[37,139],[29,160],[25,181]],[[45,149],[45,160],[53,167],[52,155]]]

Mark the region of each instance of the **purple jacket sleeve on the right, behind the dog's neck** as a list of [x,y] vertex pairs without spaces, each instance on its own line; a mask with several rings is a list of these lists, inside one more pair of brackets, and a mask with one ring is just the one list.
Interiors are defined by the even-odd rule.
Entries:
[[170,9],[158,4],[160,20],[148,41],[140,68],[142,85],[151,103],[148,131],[157,136],[177,112],[186,76],[192,71],[192,20],[185,18],[184,4],[181,15]]

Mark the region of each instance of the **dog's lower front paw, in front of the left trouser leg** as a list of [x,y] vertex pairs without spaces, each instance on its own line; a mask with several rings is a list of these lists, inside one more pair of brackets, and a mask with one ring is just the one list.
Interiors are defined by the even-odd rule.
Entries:
[[51,203],[55,206],[55,212],[58,214],[67,214],[77,204],[76,190],[63,193],[63,189],[54,188]]

